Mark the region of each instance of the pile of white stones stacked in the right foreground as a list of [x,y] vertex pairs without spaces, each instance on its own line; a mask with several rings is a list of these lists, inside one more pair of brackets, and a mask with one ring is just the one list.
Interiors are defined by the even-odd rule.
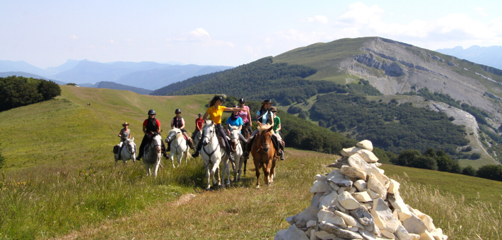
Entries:
[[291,226],[274,240],[448,239],[431,217],[404,204],[399,183],[378,168],[372,151],[369,140],[342,150],[343,157],[327,166],[332,172],[315,176],[310,207],[286,218]]

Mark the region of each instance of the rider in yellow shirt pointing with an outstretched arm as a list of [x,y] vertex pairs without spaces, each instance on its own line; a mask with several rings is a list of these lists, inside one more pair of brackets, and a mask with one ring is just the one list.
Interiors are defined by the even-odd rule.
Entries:
[[[219,95],[214,96],[211,102],[209,102],[209,108],[207,109],[206,114],[204,114],[204,120],[207,119],[207,117],[209,116],[209,119],[214,121],[214,124],[216,124],[216,131],[225,141],[226,153],[229,155],[228,159],[231,162],[235,162],[233,156],[230,154],[230,145],[228,145],[228,140],[226,138],[225,131],[223,130],[223,126],[221,126],[221,115],[223,114],[223,112],[244,111],[244,109],[235,107],[224,107],[221,106],[221,104],[223,104],[223,97]],[[199,143],[197,144],[197,149],[195,150],[194,154],[192,154],[192,157],[199,157],[200,150],[202,149],[202,139],[204,139],[204,132],[202,132],[202,138],[201,140],[199,140]]]

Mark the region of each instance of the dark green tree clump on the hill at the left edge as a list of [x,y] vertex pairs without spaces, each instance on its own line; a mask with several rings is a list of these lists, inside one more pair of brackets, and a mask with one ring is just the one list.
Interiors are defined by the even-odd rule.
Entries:
[[0,78],[0,112],[50,100],[58,95],[61,95],[61,88],[52,81],[21,76]]

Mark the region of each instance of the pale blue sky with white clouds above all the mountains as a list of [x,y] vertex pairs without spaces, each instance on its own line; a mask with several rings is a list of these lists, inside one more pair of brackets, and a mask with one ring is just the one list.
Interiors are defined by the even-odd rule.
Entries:
[[502,1],[8,1],[0,60],[239,66],[341,38],[426,49],[502,45]]

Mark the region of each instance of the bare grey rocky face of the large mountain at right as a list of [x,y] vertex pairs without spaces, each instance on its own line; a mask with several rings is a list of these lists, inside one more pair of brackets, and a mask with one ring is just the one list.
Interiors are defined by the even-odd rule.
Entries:
[[501,125],[502,103],[486,92],[502,92],[502,71],[442,55],[411,44],[370,38],[363,54],[340,62],[341,71],[370,81],[384,95],[428,88],[489,112],[494,127]]

